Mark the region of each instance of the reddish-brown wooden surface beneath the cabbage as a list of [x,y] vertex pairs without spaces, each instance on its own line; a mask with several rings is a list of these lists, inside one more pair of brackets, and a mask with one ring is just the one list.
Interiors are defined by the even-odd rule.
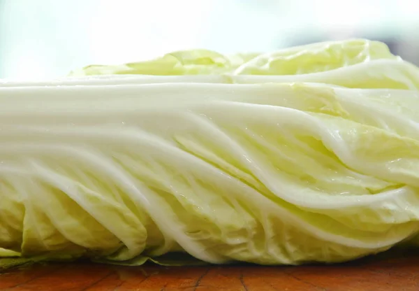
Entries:
[[419,290],[419,256],[304,267],[47,264],[0,274],[0,290]]

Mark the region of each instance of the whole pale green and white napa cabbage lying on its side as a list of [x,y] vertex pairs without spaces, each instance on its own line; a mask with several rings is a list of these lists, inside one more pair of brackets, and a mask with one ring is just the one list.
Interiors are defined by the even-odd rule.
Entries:
[[1,83],[0,267],[418,245],[416,66],[363,40],[168,56]]

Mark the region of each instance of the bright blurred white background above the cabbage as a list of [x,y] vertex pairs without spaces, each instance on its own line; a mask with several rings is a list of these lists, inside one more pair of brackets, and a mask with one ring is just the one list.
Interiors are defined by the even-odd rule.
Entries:
[[416,0],[0,0],[0,78],[65,76],[173,50],[370,38],[419,64]]

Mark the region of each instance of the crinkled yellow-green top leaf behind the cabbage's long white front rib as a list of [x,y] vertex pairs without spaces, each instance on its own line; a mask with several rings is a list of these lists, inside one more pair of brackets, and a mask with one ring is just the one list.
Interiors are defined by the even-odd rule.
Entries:
[[[148,62],[87,66],[70,76],[110,74],[144,75],[136,80],[145,83],[309,82],[353,88],[419,88],[416,66],[392,55],[384,43],[364,39],[314,43],[263,54],[225,56],[210,50],[184,50]],[[182,75],[203,75],[203,78],[168,78]]]

